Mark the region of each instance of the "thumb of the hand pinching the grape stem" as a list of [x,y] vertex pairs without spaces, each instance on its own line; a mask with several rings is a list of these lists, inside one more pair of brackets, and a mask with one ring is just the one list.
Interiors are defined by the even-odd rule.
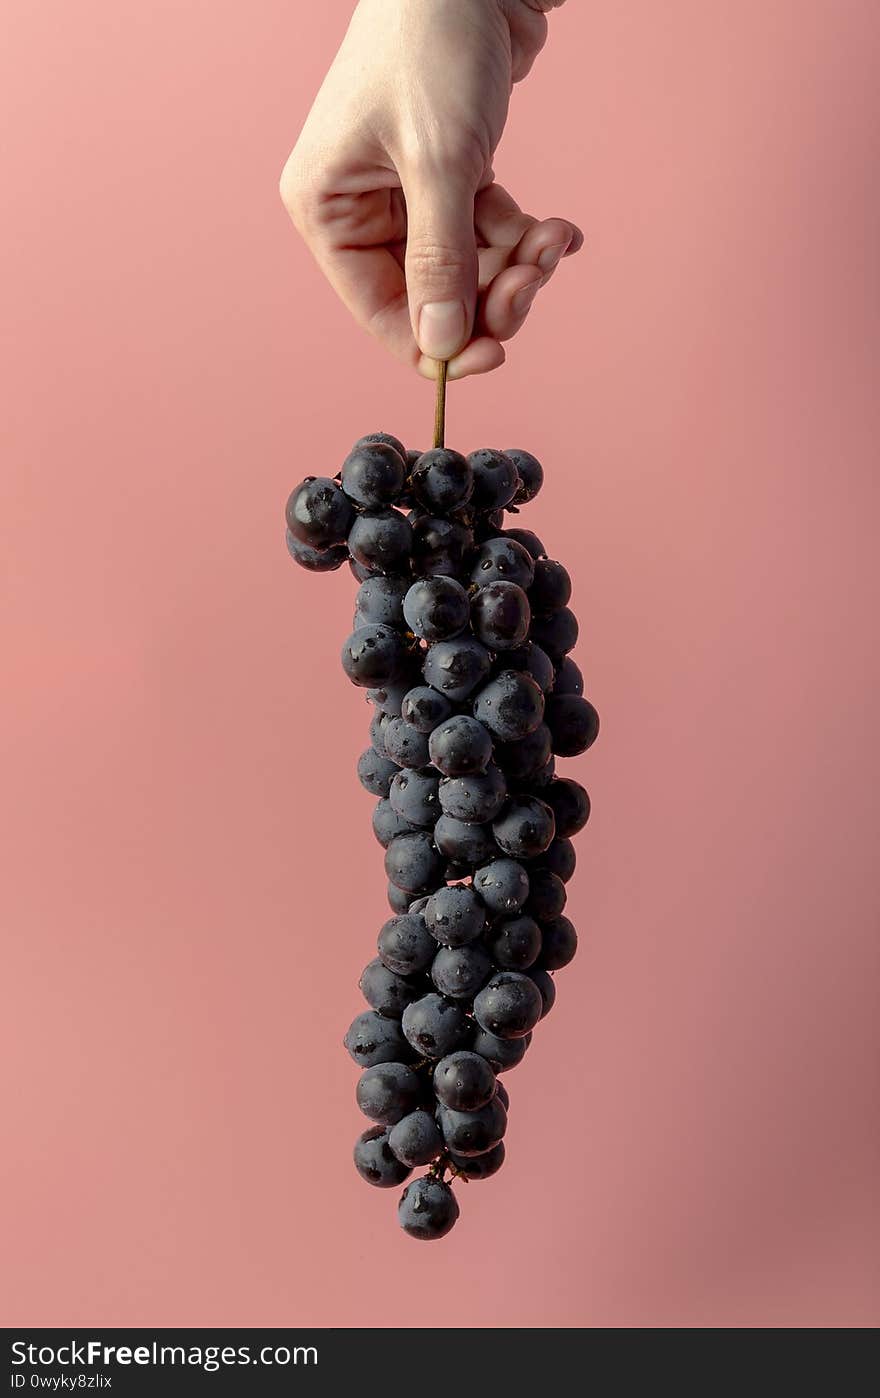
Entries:
[[402,173],[402,185],[413,334],[424,355],[450,359],[470,338],[477,303],[474,186],[437,168]]

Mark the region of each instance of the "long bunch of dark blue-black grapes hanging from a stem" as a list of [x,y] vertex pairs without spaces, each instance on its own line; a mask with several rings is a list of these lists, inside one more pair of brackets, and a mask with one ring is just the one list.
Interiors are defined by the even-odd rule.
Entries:
[[287,502],[297,563],[348,563],[360,583],[341,658],[372,706],[358,777],[393,916],[344,1039],[374,1123],[354,1163],[381,1188],[428,1167],[399,1205],[418,1239],[456,1222],[452,1180],[504,1163],[499,1075],[578,941],[565,884],[590,802],[555,759],[585,752],[599,717],[569,656],[568,572],[530,530],[505,528],[541,482],[527,452],[407,452],[376,432]]

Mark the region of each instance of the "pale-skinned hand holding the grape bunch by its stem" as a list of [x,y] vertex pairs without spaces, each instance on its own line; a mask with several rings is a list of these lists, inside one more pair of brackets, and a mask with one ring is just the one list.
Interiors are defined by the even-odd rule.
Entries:
[[497,369],[578,252],[492,159],[562,0],[360,0],[284,166],[294,225],[358,324],[425,377]]

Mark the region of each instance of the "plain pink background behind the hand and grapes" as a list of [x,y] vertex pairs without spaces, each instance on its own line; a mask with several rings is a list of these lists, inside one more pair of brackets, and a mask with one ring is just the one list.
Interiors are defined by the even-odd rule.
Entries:
[[434,1248],[350,1163],[368,713],[281,534],[431,419],[277,197],[347,11],[4,6],[1,1318],[876,1324],[879,7],[569,0],[516,91],[498,175],[588,243],[449,438],[547,463],[603,731]]

